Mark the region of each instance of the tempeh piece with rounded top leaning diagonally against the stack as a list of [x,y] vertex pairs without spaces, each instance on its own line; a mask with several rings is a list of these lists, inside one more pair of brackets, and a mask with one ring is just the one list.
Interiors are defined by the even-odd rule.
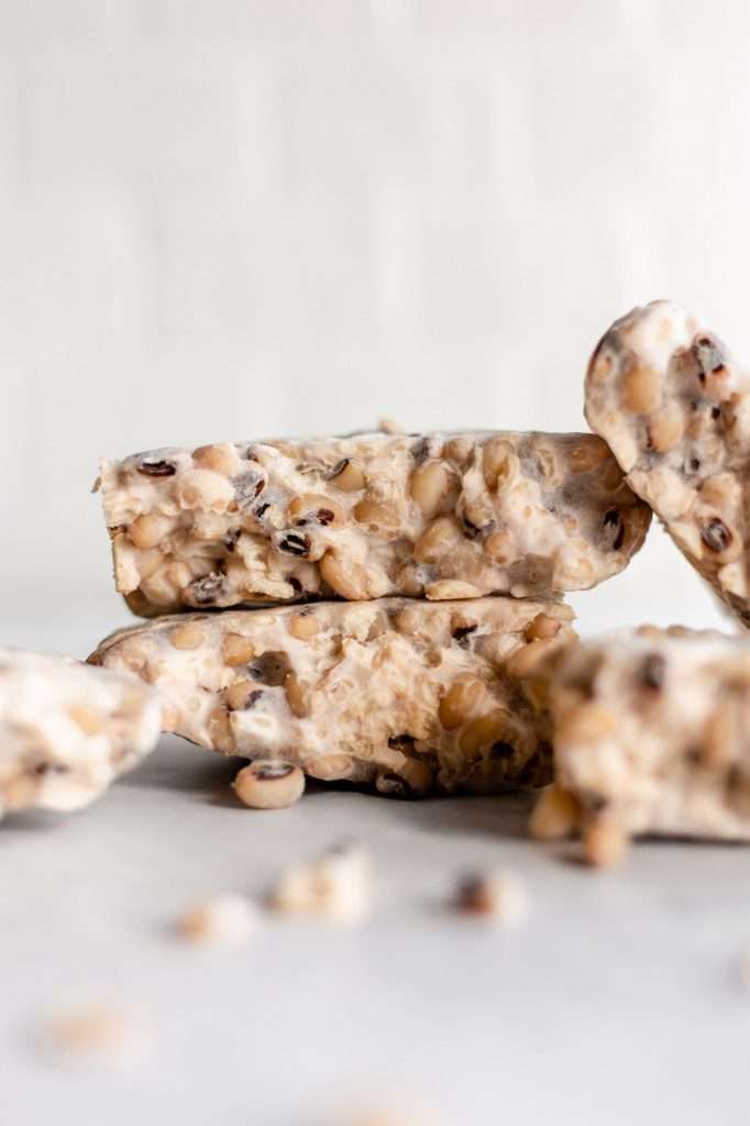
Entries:
[[745,625],[749,386],[716,337],[668,301],[616,321],[586,381],[586,417],[631,488]]

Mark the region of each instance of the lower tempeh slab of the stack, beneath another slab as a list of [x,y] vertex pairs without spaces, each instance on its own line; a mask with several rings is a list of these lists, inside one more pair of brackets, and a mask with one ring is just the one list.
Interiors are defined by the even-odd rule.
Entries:
[[548,780],[534,669],[574,634],[560,602],[315,602],[176,615],[90,660],[154,683],[164,725],[384,794],[490,793]]

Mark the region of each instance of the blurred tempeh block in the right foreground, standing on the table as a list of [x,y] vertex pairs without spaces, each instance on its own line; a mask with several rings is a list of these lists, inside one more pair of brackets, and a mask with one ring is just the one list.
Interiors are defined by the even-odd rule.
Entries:
[[538,837],[578,825],[595,864],[631,835],[750,840],[750,641],[620,631],[553,654],[556,788]]

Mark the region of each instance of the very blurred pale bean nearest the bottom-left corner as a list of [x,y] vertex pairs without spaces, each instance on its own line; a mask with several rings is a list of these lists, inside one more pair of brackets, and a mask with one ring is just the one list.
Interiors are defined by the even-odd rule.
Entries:
[[152,1045],[151,1021],[124,1006],[96,1003],[61,1011],[38,1031],[43,1054],[71,1067],[130,1066],[148,1055]]

